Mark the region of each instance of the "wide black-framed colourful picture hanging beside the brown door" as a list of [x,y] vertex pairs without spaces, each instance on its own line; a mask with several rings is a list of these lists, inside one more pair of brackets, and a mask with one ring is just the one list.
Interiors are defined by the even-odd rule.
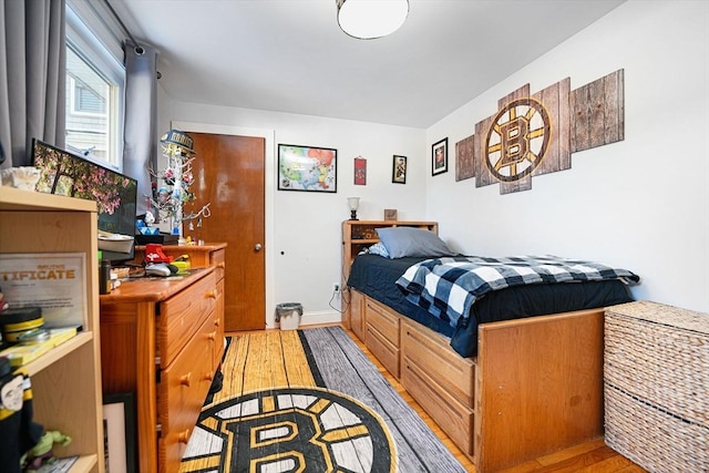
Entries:
[[337,150],[278,144],[277,188],[337,193]]

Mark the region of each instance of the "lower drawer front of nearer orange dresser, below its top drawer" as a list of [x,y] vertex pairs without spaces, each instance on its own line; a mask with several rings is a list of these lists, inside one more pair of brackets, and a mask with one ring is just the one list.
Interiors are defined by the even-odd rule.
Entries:
[[157,412],[162,428],[158,441],[161,471],[177,471],[209,391],[214,376],[214,318],[208,317],[189,345],[161,372],[157,387]]

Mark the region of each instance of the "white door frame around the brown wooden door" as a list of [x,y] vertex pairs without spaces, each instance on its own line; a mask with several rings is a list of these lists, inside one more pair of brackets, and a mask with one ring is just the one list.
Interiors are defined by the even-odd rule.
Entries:
[[[215,125],[209,123],[196,123],[196,122],[181,122],[181,121],[172,121],[171,127],[176,130],[182,130],[184,132],[193,132],[193,133],[209,133],[215,135],[236,135],[236,136],[254,136],[260,137],[266,141],[265,150],[264,150],[264,158],[266,162],[264,163],[264,198],[266,204],[266,215],[264,216],[264,223],[266,228],[265,235],[265,250],[266,250],[266,280],[264,281],[264,286],[266,289],[266,313],[264,313],[264,320],[266,321],[266,328],[273,329],[276,328],[276,299],[274,295],[275,286],[275,269],[274,269],[274,225],[275,225],[275,212],[274,212],[274,199],[276,193],[275,179],[271,176],[275,176],[275,166],[276,166],[276,132],[274,130],[267,128],[250,128],[244,126],[227,126],[227,125]],[[199,156],[197,156],[198,158]],[[229,248],[227,247],[227,251]]]

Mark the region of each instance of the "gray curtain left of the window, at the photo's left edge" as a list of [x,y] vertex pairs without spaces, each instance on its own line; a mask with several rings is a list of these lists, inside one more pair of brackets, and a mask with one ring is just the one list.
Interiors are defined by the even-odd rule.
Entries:
[[64,0],[0,0],[0,167],[30,166],[32,138],[64,147]]

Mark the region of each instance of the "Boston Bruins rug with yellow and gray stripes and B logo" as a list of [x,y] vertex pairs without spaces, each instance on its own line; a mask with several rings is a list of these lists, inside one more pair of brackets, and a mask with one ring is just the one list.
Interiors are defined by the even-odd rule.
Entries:
[[232,337],[182,473],[464,472],[340,327]]

